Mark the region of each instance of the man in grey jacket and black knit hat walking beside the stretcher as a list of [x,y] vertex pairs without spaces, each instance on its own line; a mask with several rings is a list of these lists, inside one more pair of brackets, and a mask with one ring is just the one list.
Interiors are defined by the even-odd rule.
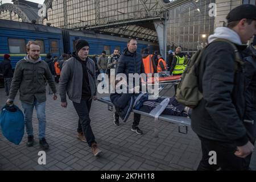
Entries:
[[87,142],[93,155],[97,156],[101,150],[97,147],[89,118],[92,99],[97,99],[95,64],[88,57],[89,43],[86,40],[77,40],[75,48],[76,51],[65,61],[60,74],[61,106],[67,107],[67,92],[79,116],[77,138]]

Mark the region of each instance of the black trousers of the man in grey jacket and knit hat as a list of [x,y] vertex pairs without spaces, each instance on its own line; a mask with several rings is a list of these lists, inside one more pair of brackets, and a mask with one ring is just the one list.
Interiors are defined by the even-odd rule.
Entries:
[[73,105],[76,109],[77,115],[79,115],[79,123],[77,127],[78,133],[84,133],[87,143],[89,146],[92,146],[92,143],[95,142],[95,137],[92,131],[92,127],[90,127],[90,106],[92,105],[92,99],[82,98],[80,104],[73,102]]

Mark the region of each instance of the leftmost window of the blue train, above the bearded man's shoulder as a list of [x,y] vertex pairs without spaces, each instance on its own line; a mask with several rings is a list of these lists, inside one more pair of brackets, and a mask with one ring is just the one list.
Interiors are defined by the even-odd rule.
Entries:
[[8,39],[10,53],[26,53],[24,39]]

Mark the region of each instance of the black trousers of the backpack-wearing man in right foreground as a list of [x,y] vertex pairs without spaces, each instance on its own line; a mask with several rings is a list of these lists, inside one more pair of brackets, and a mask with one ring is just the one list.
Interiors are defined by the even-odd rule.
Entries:
[[[236,146],[232,143],[218,142],[210,139],[206,139],[199,136],[201,140],[201,147],[203,157],[197,168],[197,171],[215,171],[221,168],[222,171],[246,171],[249,170],[247,167],[247,160],[251,155],[246,158],[238,158],[234,155],[236,152]],[[209,164],[210,151],[216,152],[217,164]]]

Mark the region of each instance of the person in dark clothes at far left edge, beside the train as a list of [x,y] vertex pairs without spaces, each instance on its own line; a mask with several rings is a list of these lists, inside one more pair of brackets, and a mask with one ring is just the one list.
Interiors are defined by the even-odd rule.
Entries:
[[9,96],[11,88],[11,80],[13,79],[13,69],[11,67],[10,55],[5,54],[3,56],[3,79],[5,81],[5,92],[6,96]]

